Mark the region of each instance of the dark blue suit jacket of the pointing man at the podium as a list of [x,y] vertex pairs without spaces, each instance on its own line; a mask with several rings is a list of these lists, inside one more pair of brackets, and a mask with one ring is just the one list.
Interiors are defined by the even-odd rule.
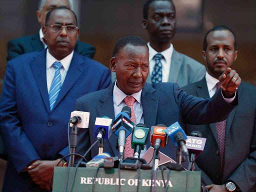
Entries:
[[[76,151],[84,154],[88,147],[95,142],[94,122],[96,117],[108,116],[114,119],[113,108],[113,86],[114,83],[103,90],[89,93],[77,99],[76,110],[90,112],[89,128],[78,130],[78,144]],[[236,104],[234,101],[234,104]],[[182,91],[176,83],[145,83],[141,92],[141,102],[143,107],[144,124],[151,127],[156,124],[166,126],[178,121],[182,126],[184,122],[193,124],[204,124],[205,122],[216,122],[224,119],[234,106],[227,104],[219,91],[213,98],[202,99],[191,96]],[[216,106],[222,106],[225,110],[218,110]],[[217,111],[215,111],[217,110]],[[216,115],[216,114],[221,115]],[[111,134],[108,140],[104,141],[104,152],[109,152],[112,156],[117,156],[115,148],[116,135]],[[146,147],[150,146],[150,139],[146,142]],[[169,140],[164,148],[160,148],[164,154],[175,159],[176,147]],[[98,153],[97,145],[92,147],[87,159]]]

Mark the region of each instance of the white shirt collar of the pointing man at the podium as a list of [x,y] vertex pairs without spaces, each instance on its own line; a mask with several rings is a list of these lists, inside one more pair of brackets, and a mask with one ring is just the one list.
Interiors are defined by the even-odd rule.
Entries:
[[[113,99],[115,100],[115,103],[116,105],[118,106],[122,101],[123,99],[128,96],[126,95],[124,92],[122,92],[116,85],[116,82],[117,80],[115,80],[115,83],[114,83],[114,88],[113,88]],[[133,94],[131,94],[130,96],[133,96],[135,98],[136,101],[138,101],[140,104],[141,104],[141,91],[138,91],[138,92],[135,92]]]

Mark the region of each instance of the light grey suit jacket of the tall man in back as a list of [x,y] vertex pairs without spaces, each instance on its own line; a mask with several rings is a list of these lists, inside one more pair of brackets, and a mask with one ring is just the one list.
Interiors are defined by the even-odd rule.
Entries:
[[[205,75],[205,66],[196,60],[179,53],[173,48],[168,82],[176,82],[180,87],[198,81]],[[112,82],[116,79],[112,72]],[[151,74],[148,73],[146,82],[151,83]]]

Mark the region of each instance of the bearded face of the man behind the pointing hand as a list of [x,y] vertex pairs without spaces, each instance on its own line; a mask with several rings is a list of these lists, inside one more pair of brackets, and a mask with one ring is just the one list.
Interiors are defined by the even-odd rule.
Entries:
[[232,67],[237,57],[234,50],[234,37],[229,30],[216,30],[208,34],[206,52],[202,56],[207,64],[207,72],[218,79],[228,68]]

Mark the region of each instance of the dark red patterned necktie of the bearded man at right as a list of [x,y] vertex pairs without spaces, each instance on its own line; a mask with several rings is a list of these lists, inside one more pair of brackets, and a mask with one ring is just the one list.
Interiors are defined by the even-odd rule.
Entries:
[[[219,82],[216,83],[216,91],[219,89]],[[224,170],[224,159],[225,159],[225,129],[226,129],[226,120],[216,122],[216,130],[218,135],[218,146],[219,146],[219,155],[220,155],[220,178],[222,179],[223,170]]]

